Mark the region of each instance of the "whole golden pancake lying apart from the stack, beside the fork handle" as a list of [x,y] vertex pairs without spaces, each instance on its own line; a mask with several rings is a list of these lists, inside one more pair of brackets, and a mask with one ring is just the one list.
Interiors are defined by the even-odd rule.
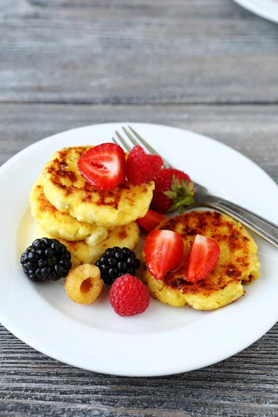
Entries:
[[[165,304],[196,310],[213,310],[226,306],[244,295],[242,283],[260,276],[257,245],[242,224],[215,211],[192,211],[165,220],[158,229],[176,231],[183,238],[183,262],[176,270],[158,280],[146,270],[142,280],[153,297]],[[186,259],[197,234],[216,240],[220,259],[202,280],[186,281]]]

